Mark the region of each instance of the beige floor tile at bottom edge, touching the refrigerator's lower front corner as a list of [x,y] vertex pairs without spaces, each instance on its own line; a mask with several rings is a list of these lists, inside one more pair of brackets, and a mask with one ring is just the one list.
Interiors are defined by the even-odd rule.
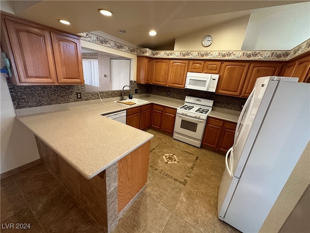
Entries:
[[203,233],[213,233],[217,217],[217,203],[185,187],[173,213]]

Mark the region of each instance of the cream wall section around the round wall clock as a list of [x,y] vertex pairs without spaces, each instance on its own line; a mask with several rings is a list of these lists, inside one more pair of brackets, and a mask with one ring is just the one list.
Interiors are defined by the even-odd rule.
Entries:
[[[174,50],[241,50],[247,30],[249,15],[226,23],[221,23],[202,31],[175,38]],[[202,46],[202,39],[211,35],[213,42],[209,47]]]

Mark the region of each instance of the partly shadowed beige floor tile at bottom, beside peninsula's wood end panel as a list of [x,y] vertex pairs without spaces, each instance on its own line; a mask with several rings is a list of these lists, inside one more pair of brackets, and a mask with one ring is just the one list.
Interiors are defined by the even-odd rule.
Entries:
[[128,233],[162,233],[170,215],[170,210],[142,193],[118,224]]

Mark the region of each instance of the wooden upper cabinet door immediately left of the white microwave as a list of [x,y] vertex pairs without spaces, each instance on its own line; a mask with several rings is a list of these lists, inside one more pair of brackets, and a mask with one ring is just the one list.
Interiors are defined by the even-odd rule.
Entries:
[[188,61],[170,61],[167,86],[185,88]]

